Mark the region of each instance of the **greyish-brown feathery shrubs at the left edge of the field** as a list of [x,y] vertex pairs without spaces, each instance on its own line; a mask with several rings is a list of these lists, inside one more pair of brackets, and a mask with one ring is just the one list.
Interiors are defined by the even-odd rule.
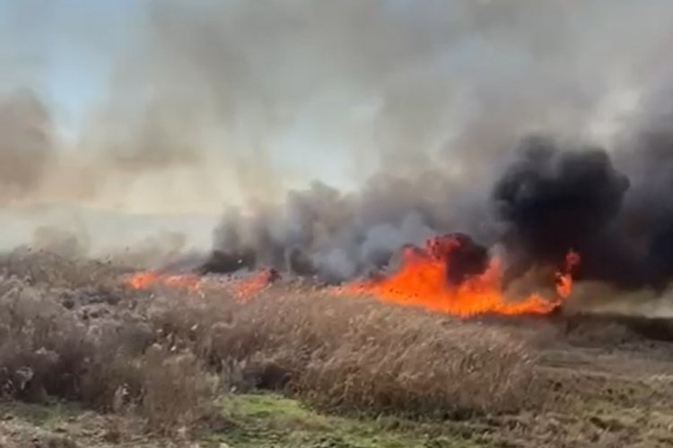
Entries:
[[81,400],[135,410],[152,430],[189,426],[209,410],[212,376],[191,353],[157,349],[135,317],[85,320],[52,291],[0,279],[0,391],[4,398]]

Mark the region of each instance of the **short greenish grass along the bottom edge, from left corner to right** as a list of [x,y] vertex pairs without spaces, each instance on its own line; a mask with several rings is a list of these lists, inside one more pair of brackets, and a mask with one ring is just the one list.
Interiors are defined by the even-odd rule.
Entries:
[[[658,409],[654,402],[634,404],[602,396],[571,394],[554,409],[462,421],[331,415],[274,393],[226,395],[219,406],[223,420],[215,419],[211,429],[201,433],[202,448],[221,448],[223,443],[232,448],[533,448],[617,443],[663,447],[673,443],[670,409]],[[0,402],[0,433],[5,422],[10,427],[35,426],[70,435],[81,446],[109,446],[109,421],[75,404]],[[140,442],[144,447],[165,446],[157,435],[143,433],[142,422],[133,422],[127,426],[125,420],[119,426],[136,431],[129,433],[125,446],[140,446]]]

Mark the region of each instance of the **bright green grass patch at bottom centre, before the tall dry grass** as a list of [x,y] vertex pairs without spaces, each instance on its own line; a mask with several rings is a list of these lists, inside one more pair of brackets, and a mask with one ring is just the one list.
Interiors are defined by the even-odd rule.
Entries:
[[[233,427],[207,440],[232,448],[473,448],[488,446],[469,434],[447,435],[440,424],[398,418],[347,418],[321,414],[272,393],[233,395],[223,401]],[[450,432],[450,431],[449,431]]]

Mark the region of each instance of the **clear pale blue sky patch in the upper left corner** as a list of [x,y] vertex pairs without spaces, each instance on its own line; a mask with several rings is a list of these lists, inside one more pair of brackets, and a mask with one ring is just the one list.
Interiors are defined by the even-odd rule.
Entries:
[[[5,41],[20,39],[10,66],[53,106],[58,125],[74,133],[104,90],[114,57],[127,44],[143,0],[0,0]],[[100,27],[105,23],[105,28]],[[7,39],[10,36],[11,39]],[[86,36],[86,39],[83,39]],[[4,47],[6,48],[6,47]]]

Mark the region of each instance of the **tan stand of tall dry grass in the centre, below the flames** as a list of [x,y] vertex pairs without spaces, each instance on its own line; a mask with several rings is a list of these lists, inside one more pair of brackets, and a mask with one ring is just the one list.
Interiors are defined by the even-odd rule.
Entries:
[[500,329],[316,290],[223,294],[148,309],[153,327],[237,387],[321,407],[456,416],[528,406],[534,358]]

